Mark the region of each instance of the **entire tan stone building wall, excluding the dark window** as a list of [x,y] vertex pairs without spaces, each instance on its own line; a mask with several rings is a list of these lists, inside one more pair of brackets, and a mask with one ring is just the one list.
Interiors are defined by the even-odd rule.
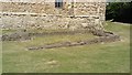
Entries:
[[91,29],[102,30],[105,2],[0,2],[2,29]]

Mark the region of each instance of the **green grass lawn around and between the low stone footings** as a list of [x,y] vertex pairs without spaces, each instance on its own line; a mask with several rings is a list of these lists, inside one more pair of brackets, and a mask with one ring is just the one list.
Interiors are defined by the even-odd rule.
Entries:
[[[107,22],[121,41],[105,44],[26,51],[26,46],[92,39],[90,34],[51,35],[24,42],[2,42],[3,73],[129,73],[130,26]],[[3,31],[3,33],[10,31]],[[11,31],[12,32],[12,31]]]

